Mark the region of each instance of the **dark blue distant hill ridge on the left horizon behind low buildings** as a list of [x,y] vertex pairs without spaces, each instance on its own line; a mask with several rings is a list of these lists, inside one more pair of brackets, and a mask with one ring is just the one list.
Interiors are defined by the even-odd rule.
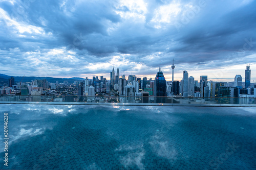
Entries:
[[53,78],[53,77],[27,77],[25,76],[23,78],[23,76],[8,76],[8,75],[4,75],[4,74],[0,74],[0,84],[4,84],[4,83],[8,83],[8,79],[10,79],[11,77],[14,77],[14,81],[15,82],[31,82],[32,80],[42,80],[42,79],[46,79],[48,82],[50,83],[55,83],[56,81],[58,81],[59,83],[63,83],[63,81],[68,81],[68,82],[74,82],[74,81],[82,81],[85,80],[83,78],[78,78],[78,77],[74,77],[74,78]]

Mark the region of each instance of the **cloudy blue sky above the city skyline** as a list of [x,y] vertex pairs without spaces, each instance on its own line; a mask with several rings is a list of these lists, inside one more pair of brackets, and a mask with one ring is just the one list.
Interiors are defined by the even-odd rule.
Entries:
[[0,74],[256,81],[253,0],[0,0]]

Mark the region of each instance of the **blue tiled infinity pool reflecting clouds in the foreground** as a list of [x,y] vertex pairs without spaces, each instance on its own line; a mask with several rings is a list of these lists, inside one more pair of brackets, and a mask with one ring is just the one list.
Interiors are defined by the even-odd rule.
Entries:
[[256,169],[255,108],[0,107],[0,169]]

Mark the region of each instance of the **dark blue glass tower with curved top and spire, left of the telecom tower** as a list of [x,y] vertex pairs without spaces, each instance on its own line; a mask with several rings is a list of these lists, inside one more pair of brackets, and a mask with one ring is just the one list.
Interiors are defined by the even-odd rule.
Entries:
[[[143,84],[144,87],[144,84]],[[154,83],[154,96],[166,96],[166,80],[161,71],[161,63],[159,65],[159,72],[157,72]],[[156,103],[165,103],[165,98],[156,98]]]

